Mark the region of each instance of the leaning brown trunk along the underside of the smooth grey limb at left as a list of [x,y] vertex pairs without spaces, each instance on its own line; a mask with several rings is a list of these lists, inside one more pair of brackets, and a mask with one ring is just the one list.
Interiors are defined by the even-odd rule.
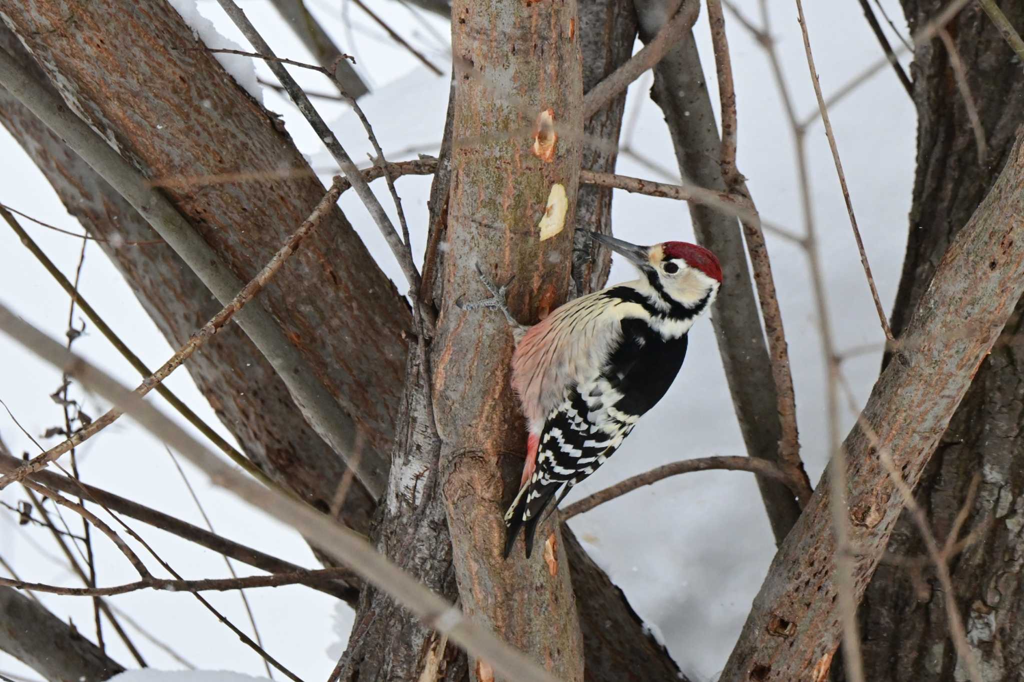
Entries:
[[[17,37],[2,26],[0,49],[45,82],[45,75]],[[105,240],[99,246],[172,347],[180,347],[220,310],[199,277],[168,246],[125,243],[159,239],[159,235],[60,138],[2,88],[0,123],[43,172],[68,211],[89,234]],[[308,275],[303,270],[286,268],[279,274],[279,284],[301,286]],[[330,508],[334,489],[325,488],[324,482],[337,485],[344,465],[297,415],[284,382],[241,329],[236,325],[222,329],[185,368],[250,459],[318,508]],[[366,532],[373,503],[362,486],[354,482],[340,517],[351,528]]]

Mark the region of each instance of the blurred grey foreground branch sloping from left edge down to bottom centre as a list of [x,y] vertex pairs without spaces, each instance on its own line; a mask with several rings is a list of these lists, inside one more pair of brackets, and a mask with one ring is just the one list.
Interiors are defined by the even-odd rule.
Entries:
[[460,608],[406,574],[358,534],[308,505],[242,475],[153,405],[82,358],[69,357],[58,344],[2,304],[0,330],[37,357],[75,376],[87,389],[130,412],[136,422],[193,462],[215,485],[295,528],[312,544],[324,548],[367,582],[391,595],[429,627],[440,633],[447,632],[453,641],[472,655],[487,661],[496,673],[508,679],[557,682],[551,673],[502,641],[489,628],[465,618]]

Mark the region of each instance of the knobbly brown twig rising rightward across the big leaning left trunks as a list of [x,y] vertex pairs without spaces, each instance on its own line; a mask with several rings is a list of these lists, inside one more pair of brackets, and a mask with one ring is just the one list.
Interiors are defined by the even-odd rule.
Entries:
[[[263,269],[260,270],[260,272],[257,273],[256,276],[253,277],[253,279],[250,280],[250,282],[246,284],[241,291],[239,291],[238,295],[236,295],[233,300],[224,306],[220,312],[214,315],[209,322],[203,325],[199,331],[194,333],[185,345],[178,349],[170,360],[164,363],[163,366],[161,366],[156,372],[143,379],[142,383],[135,389],[135,394],[142,397],[150,393],[150,391],[166,379],[171,372],[187,360],[193,353],[203,346],[203,344],[209,340],[210,337],[227,324],[227,322],[231,319],[231,316],[240,311],[247,303],[252,301],[253,298],[255,298],[264,286],[266,286],[270,279],[273,278],[282,266],[284,266],[288,257],[295,252],[299,242],[302,241],[306,234],[319,224],[324,216],[326,216],[331,208],[334,207],[335,202],[337,202],[340,195],[341,183],[336,180],[334,184],[331,185],[331,189],[329,189],[327,194],[324,195],[324,198],[316,204],[316,208],[313,209],[313,212],[309,215],[309,217],[303,221],[302,225],[300,225],[294,233],[292,233],[285,244],[278,251],[276,254],[273,255],[273,258],[270,259]],[[73,434],[72,437],[63,443],[50,448],[41,455],[37,455],[30,461],[26,462],[17,470],[0,476],[0,490],[3,490],[14,481],[22,481],[30,473],[42,469],[49,462],[55,460],[72,448],[78,446],[92,436],[98,434],[110,424],[114,423],[114,421],[120,416],[121,412],[118,411],[117,408],[112,408],[95,421]],[[255,464],[250,462],[248,459],[244,461],[248,464],[247,466],[243,465],[247,471],[261,481],[266,480],[266,474],[264,474]]]

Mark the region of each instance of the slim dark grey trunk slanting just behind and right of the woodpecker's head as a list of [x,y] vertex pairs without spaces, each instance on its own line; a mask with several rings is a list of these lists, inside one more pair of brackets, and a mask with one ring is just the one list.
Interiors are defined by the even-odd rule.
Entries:
[[[649,41],[666,21],[667,5],[673,3],[634,2],[640,38]],[[686,33],[654,67],[651,98],[665,113],[680,174],[700,187],[728,190],[718,163],[722,147],[718,126],[692,33]],[[722,263],[725,285],[711,321],[746,452],[777,462],[781,437],[777,394],[739,223],[732,216],[695,203],[690,203],[689,212],[697,241]],[[775,542],[781,543],[800,516],[800,506],[781,483],[758,478],[758,487]]]

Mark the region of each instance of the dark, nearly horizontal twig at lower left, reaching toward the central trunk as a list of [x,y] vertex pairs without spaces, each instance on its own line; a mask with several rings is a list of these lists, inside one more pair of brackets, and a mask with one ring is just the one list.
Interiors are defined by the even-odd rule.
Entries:
[[281,587],[283,585],[315,585],[326,580],[343,576],[348,569],[317,569],[297,573],[270,574],[269,576],[245,576],[243,578],[206,578],[202,580],[171,580],[150,577],[134,583],[112,587],[62,587],[32,583],[24,580],[0,578],[0,585],[47,594],[69,597],[110,597],[139,590],[164,590],[167,592],[227,592],[257,587]]

